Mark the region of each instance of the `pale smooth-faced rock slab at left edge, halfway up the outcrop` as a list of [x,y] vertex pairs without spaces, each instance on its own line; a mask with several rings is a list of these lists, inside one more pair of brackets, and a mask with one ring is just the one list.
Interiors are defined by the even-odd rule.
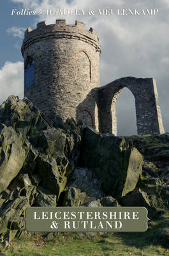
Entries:
[[29,148],[31,145],[22,134],[0,124],[0,193],[20,172]]

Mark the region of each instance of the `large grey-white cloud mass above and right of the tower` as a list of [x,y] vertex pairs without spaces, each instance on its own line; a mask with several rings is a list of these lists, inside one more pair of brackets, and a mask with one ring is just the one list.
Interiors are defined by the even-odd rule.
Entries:
[[[119,77],[154,77],[157,81],[159,102],[162,115],[169,108],[168,101],[168,0],[11,0],[22,4],[29,10],[50,8],[81,8],[85,11],[97,11],[98,8],[137,8],[139,10],[157,8],[154,16],[101,16],[101,15],[46,15],[44,12],[31,19],[29,26],[34,29],[36,23],[46,20],[47,24],[54,24],[55,19],[66,19],[66,24],[75,24],[75,20],[85,23],[85,28],[94,28],[100,38],[102,48],[100,58],[101,85],[112,82]],[[118,2],[118,3],[117,3]],[[126,96],[125,96],[126,97]],[[128,101],[126,98],[125,102]],[[121,108],[121,111],[123,109]],[[165,113],[164,113],[165,114]],[[164,116],[164,115],[163,115]],[[169,131],[168,118],[164,118],[166,131]],[[132,124],[125,129],[131,129]]]

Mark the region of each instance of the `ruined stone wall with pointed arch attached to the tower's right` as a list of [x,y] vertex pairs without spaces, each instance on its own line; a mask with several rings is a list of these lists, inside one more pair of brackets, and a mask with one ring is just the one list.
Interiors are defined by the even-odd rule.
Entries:
[[153,78],[123,77],[99,88],[99,131],[117,135],[115,104],[122,88],[135,97],[138,134],[163,133],[156,81]]

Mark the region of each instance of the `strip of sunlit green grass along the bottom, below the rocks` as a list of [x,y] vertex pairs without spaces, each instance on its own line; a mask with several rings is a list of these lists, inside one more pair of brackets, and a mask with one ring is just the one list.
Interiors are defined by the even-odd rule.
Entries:
[[169,216],[150,221],[143,233],[54,234],[47,240],[38,234],[11,241],[10,247],[0,246],[0,255],[8,256],[168,256],[168,237],[161,236],[169,228]]

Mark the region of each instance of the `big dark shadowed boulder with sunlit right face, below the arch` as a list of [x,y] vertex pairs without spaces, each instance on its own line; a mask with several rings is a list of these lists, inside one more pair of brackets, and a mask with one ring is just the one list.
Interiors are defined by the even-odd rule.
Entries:
[[107,195],[120,198],[135,189],[143,157],[124,138],[85,128],[80,164],[95,170]]

